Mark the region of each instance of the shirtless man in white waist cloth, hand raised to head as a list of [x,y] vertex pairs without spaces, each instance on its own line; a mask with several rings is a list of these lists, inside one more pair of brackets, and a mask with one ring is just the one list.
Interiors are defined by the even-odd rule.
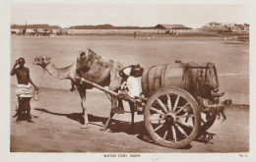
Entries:
[[[18,110],[17,113],[13,116],[18,117],[16,122],[21,121],[21,114],[22,112],[26,111],[28,115],[27,122],[33,123],[32,116],[31,116],[31,99],[32,99],[32,85],[34,90],[38,90],[37,86],[32,82],[30,77],[30,69],[25,67],[25,59],[19,58],[16,60],[14,67],[11,71],[11,76],[16,75],[17,77],[17,88],[16,88],[16,95],[18,96]],[[18,68],[17,65],[19,65]]]

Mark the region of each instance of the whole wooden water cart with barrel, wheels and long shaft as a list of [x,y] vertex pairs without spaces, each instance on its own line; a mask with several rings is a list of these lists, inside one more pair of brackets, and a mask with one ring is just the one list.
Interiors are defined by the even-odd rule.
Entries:
[[[96,88],[122,97],[92,81]],[[145,69],[141,98],[129,99],[142,105],[149,135],[162,146],[180,148],[208,130],[231,101],[221,100],[219,79],[213,63],[175,63]]]

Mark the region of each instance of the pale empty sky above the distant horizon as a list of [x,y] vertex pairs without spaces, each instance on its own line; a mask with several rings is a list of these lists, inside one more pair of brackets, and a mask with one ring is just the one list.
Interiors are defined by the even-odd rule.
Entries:
[[180,24],[202,27],[210,22],[250,24],[245,4],[12,4],[11,25],[60,27],[103,25],[155,27]]

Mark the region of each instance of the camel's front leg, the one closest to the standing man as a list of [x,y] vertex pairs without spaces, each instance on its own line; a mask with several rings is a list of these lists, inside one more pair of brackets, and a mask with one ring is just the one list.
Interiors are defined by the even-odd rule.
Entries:
[[87,129],[88,128],[88,124],[89,124],[89,120],[88,120],[88,112],[87,112],[87,103],[86,103],[86,88],[83,85],[77,85],[78,87],[78,91],[81,97],[81,107],[83,109],[83,125],[82,125],[82,129]]

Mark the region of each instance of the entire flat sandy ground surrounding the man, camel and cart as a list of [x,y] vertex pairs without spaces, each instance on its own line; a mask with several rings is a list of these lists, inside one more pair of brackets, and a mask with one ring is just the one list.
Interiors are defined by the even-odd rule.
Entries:
[[[150,139],[143,115],[135,116],[135,130],[128,132],[130,113],[115,115],[110,130],[100,132],[110,111],[104,93],[88,92],[89,129],[81,129],[82,108],[78,92],[71,92],[70,81],[56,80],[32,65],[35,56],[47,55],[56,67],[75,61],[78,51],[90,47],[96,53],[117,59],[123,65],[140,63],[143,67],[182,62],[216,64],[225,99],[236,105],[227,110],[227,120],[216,121],[204,137],[183,149],[162,147]],[[249,148],[249,44],[220,38],[154,38],[112,36],[11,38],[11,63],[24,57],[32,81],[40,88],[39,101],[32,100],[35,123],[15,119],[16,77],[11,80],[12,152],[248,152]],[[66,89],[66,90],[65,90]],[[9,109],[9,108],[8,108]],[[126,106],[126,111],[129,108]]]

